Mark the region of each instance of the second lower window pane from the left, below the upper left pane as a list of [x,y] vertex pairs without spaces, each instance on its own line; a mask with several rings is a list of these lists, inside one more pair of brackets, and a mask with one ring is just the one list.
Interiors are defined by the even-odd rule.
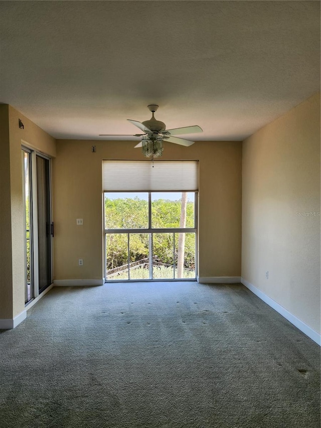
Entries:
[[129,234],[129,279],[149,279],[150,233]]

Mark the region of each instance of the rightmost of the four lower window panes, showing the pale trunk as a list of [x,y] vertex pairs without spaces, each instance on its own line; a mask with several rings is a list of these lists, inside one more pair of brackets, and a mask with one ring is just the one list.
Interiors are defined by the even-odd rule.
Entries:
[[195,278],[195,233],[175,233],[175,277]]

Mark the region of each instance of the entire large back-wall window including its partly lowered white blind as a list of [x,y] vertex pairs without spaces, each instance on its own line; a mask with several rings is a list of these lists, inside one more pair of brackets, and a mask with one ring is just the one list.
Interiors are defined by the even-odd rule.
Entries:
[[195,279],[196,161],[104,161],[106,279]]

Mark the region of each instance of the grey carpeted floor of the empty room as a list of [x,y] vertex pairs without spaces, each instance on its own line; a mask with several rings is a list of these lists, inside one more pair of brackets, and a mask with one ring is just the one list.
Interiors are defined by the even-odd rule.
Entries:
[[320,426],[320,348],[241,285],[54,288],[0,371],[1,428]]

